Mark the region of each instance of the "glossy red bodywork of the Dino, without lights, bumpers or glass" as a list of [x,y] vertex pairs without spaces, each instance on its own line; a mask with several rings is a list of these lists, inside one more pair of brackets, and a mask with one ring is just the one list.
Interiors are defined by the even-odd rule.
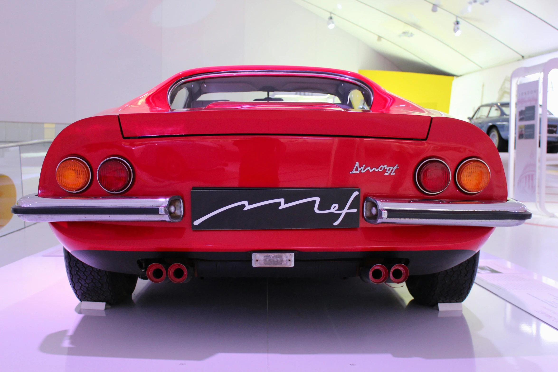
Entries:
[[[370,111],[328,105],[230,103],[171,112],[167,90],[183,76],[230,70],[326,71],[371,86]],[[291,105],[292,106],[292,105]],[[151,137],[143,137],[151,136]],[[138,138],[143,137],[143,138]],[[488,164],[491,180],[466,195],[452,180],[435,199],[506,201],[507,186],[497,149],[474,125],[388,93],[349,71],[292,66],[228,66],[184,71],[118,109],[79,120],[52,143],[41,170],[39,196],[76,196],[61,189],[56,166],[80,156],[95,171],[110,156],[126,158],[134,183],[123,196],[179,195],[185,214],[178,223],[55,222],[56,237],[70,252],[477,252],[494,228],[472,226],[372,225],[360,216],[356,229],[193,231],[189,214],[193,187],[359,187],[365,197],[429,199],[416,187],[417,165],[426,158],[446,162],[451,172],[465,158]],[[383,172],[350,173],[355,162],[398,165]],[[452,176],[453,177],[453,176]],[[96,180],[78,196],[108,196]]]

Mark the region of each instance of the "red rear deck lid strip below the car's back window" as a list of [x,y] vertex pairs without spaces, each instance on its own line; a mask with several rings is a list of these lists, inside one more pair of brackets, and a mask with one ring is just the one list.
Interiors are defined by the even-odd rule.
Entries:
[[216,105],[201,110],[119,115],[126,138],[268,134],[426,139],[426,115],[383,114],[322,107]]

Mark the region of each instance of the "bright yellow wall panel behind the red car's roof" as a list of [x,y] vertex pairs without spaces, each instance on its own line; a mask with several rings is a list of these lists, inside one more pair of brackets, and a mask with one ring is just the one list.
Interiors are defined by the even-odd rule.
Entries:
[[454,76],[404,73],[402,71],[359,70],[391,93],[424,108],[449,112]]

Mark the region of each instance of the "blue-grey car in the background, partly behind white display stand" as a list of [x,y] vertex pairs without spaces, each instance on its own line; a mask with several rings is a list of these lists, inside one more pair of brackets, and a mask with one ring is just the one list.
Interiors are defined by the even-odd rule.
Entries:
[[[558,117],[549,111],[549,127],[547,138],[547,152],[558,152]],[[509,134],[509,102],[494,102],[480,105],[468,118],[469,121],[482,129],[492,139],[499,152],[508,151]]]

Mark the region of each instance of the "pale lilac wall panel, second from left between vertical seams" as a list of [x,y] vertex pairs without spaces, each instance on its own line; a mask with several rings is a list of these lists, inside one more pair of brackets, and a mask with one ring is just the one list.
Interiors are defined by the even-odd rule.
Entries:
[[161,82],[161,27],[150,22],[156,4],[76,1],[74,121]]

